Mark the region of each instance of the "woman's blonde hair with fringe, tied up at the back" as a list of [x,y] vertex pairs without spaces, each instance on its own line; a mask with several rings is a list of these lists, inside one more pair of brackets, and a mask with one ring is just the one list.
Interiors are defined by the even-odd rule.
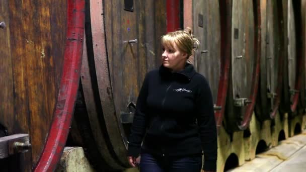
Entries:
[[180,51],[187,53],[188,59],[200,44],[199,40],[193,36],[191,29],[186,28],[185,30],[167,33],[162,36],[161,41],[164,47],[174,48],[175,43]]

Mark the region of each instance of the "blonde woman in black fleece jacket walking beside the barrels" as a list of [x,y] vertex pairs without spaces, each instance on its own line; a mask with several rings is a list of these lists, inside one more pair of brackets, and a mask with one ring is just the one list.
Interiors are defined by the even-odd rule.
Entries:
[[[163,65],[148,72],[136,105],[128,161],[140,171],[216,170],[217,135],[209,84],[187,63],[199,41],[191,30],[162,37]],[[142,145],[141,145],[142,144]]]

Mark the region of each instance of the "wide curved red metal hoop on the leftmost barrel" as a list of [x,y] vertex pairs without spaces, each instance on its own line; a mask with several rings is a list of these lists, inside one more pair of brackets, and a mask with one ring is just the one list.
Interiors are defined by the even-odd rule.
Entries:
[[63,74],[50,133],[34,171],[54,171],[65,146],[79,87],[84,24],[85,1],[68,0]]

